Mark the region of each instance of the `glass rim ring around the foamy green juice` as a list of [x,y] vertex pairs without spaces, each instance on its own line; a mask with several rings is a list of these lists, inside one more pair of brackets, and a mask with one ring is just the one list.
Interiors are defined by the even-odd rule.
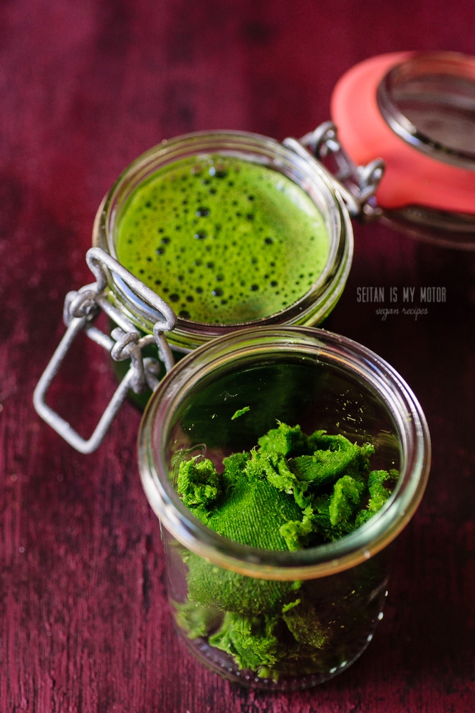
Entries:
[[[269,168],[280,171],[300,185],[317,205],[325,220],[330,245],[323,271],[308,292],[296,302],[266,317],[234,324],[202,323],[178,317],[177,327],[169,335],[174,348],[188,352],[190,348],[211,339],[254,325],[315,324],[322,321],[335,306],[348,278],[353,260],[353,228],[343,199],[315,158],[310,153],[308,158],[298,155],[273,138],[245,131],[202,131],[165,140],[151,148],[125,169],[105,196],[96,215],[93,245],[117,259],[114,231],[120,210],[118,203],[122,201],[123,205],[125,192],[128,191],[127,196],[130,196],[143,180],[162,166],[197,153],[239,153],[243,157],[254,156],[261,162],[266,160]],[[150,331],[158,319],[157,313],[113,275],[108,275],[108,289],[109,299],[122,307],[137,327]]]

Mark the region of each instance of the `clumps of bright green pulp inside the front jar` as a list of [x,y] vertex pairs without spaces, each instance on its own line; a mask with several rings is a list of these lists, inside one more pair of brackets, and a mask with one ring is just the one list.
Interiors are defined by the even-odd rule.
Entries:
[[[397,471],[371,470],[369,443],[341,435],[307,436],[278,422],[258,443],[224,458],[222,473],[200,456],[182,461],[177,483],[202,523],[249,547],[294,551],[339,540],[377,513],[397,482]],[[294,673],[323,670],[336,650],[345,659],[345,637],[357,622],[367,625],[370,591],[358,585],[328,608],[310,583],[255,579],[182,556],[188,600],[175,603],[179,626],[261,677],[277,679],[289,662]],[[369,586],[375,590],[375,578]]]

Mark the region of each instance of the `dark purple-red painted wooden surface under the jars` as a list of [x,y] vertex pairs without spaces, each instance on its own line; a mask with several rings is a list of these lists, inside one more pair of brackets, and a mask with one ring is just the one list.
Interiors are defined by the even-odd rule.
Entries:
[[[128,404],[80,456],[34,414],[68,289],[90,282],[93,217],[143,150],[189,130],[276,138],[328,118],[353,63],[406,48],[475,54],[456,0],[35,0],[0,4],[0,709],[9,713],[442,713],[475,709],[475,260],[357,226],[329,329],[390,361],[429,420],[434,466],[400,536],[385,619],[341,677],[256,694],[204,670],[172,630],[158,523]],[[444,286],[417,322],[365,285]],[[388,306],[388,305],[387,305]],[[401,305],[400,305],[401,306]],[[78,342],[54,403],[90,431],[113,389]]]

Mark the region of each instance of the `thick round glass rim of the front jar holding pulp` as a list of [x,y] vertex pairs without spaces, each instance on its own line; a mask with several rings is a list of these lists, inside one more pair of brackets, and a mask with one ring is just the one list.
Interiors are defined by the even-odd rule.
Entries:
[[[380,512],[350,535],[318,547],[282,552],[241,545],[207,528],[184,506],[168,477],[165,437],[174,409],[197,381],[248,350],[260,356],[271,345],[325,356],[357,374],[380,397],[397,428],[401,469],[395,493]],[[247,353],[247,352],[246,352]],[[158,433],[160,448],[152,444]],[[323,329],[259,327],[234,332],[201,347],[174,367],[147,405],[138,438],[142,485],[162,524],[179,543],[221,567],[255,578],[313,579],[352,568],[385,548],[407,525],[424,493],[430,436],[421,406],[404,379],[370,349]]]

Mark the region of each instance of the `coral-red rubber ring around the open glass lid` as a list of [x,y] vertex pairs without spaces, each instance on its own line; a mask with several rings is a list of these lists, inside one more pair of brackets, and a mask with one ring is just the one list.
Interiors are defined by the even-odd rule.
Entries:
[[386,163],[376,193],[383,208],[426,205],[475,214],[475,171],[431,158],[407,144],[382,117],[376,93],[382,78],[413,52],[392,52],[366,59],[340,78],[331,98],[331,116],[343,148],[355,163],[375,158]]

